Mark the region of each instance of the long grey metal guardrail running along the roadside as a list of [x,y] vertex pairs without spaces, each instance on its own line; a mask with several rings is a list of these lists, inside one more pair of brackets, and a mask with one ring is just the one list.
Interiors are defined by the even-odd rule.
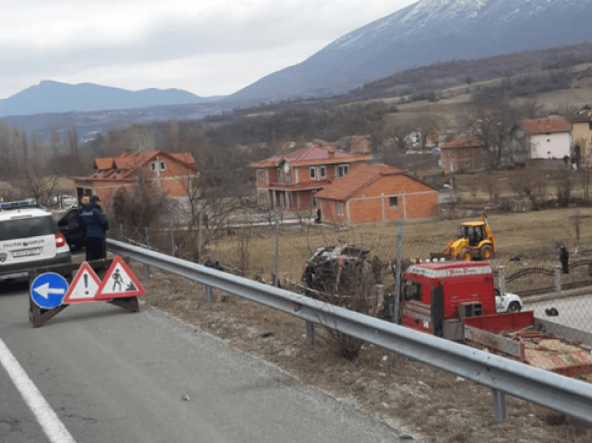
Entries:
[[511,394],[592,423],[590,383],[116,240],[108,239],[107,249],[144,265],[198,281],[206,288],[218,288],[270,306],[302,318],[307,324],[331,327],[489,387],[493,391],[496,421],[505,421],[505,394]]

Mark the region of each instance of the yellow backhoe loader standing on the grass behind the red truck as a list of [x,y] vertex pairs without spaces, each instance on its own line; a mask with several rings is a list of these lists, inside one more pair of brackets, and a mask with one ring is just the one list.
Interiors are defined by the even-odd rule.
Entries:
[[442,256],[464,261],[490,260],[495,253],[495,238],[483,214],[479,221],[467,221],[458,228],[458,238],[446,245]]

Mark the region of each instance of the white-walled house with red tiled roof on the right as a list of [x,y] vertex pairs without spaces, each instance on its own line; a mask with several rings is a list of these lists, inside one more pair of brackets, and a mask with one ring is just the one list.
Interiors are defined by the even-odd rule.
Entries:
[[564,117],[522,121],[524,132],[530,136],[531,159],[563,159],[572,157],[571,124]]

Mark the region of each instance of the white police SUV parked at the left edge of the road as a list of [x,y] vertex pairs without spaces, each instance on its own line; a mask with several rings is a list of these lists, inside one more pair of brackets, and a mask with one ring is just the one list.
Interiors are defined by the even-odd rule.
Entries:
[[30,200],[0,203],[0,281],[22,281],[29,269],[72,263],[52,215]]

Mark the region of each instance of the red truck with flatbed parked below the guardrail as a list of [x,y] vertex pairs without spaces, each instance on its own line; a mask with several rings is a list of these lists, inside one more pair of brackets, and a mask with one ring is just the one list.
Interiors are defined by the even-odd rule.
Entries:
[[592,334],[536,318],[533,311],[496,312],[489,263],[453,261],[408,267],[401,323],[564,375],[592,375]]

